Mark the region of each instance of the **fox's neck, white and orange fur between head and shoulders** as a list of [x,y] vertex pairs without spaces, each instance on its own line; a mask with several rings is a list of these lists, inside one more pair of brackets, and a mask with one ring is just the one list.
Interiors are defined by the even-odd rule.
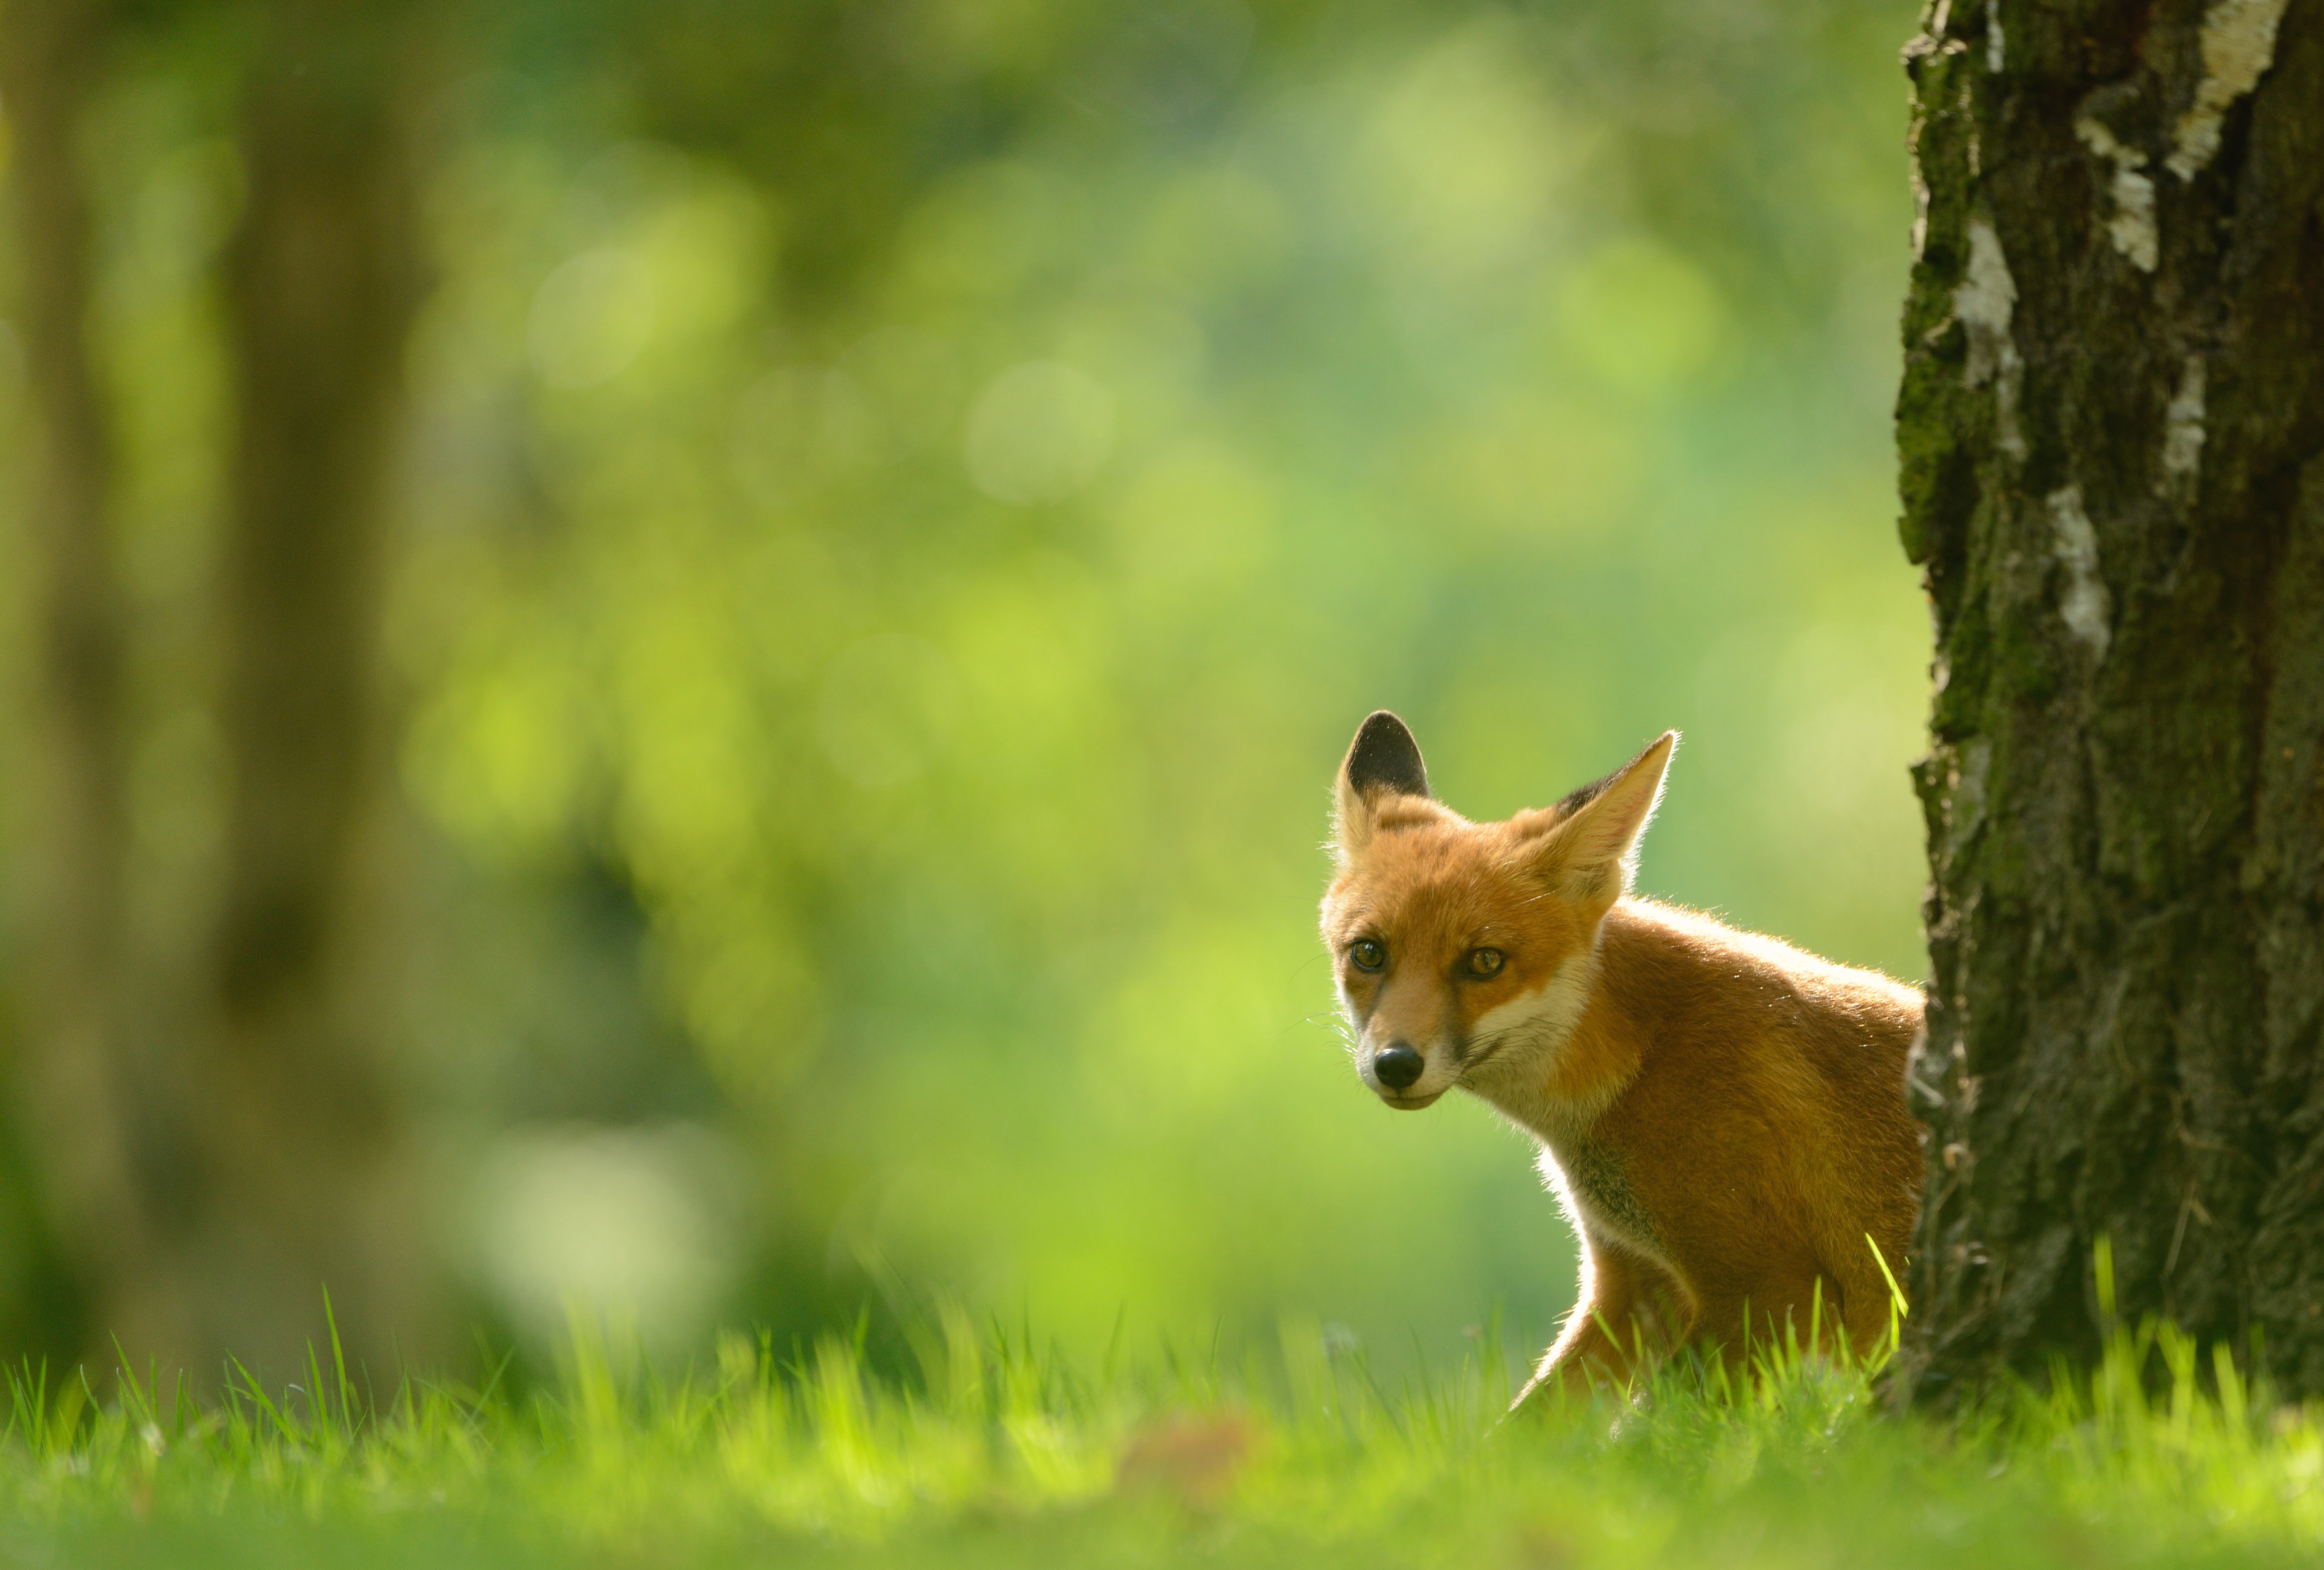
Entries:
[[1548,1145],[1590,1131],[1638,1073],[1631,1034],[1599,987],[1606,924],[1550,978],[1476,1022],[1473,1040],[1490,1057],[1462,1075],[1462,1087]]

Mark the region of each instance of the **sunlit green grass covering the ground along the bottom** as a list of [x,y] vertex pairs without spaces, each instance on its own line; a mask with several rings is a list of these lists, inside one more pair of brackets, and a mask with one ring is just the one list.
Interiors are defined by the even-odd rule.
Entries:
[[[1492,1345],[1490,1340],[1480,1345]],[[1504,1368],[1383,1391],[1313,1326],[1241,1368],[1076,1370],[939,1315],[920,1373],[744,1338],[655,1380],[581,1328],[553,1389],[330,1359],[284,1396],[14,1382],[0,1563],[40,1565],[2271,1565],[2324,1554],[2324,1433],[2124,1331],[1966,1419],[1778,1349],[1752,1380],[1501,1419]]]

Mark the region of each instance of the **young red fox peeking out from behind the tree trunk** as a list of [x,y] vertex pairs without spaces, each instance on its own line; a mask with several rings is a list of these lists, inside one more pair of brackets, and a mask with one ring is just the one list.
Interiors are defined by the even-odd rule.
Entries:
[[1787,1324],[1871,1352],[1920,1210],[1922,994],[1629,892],[1676,746],[1506,822],[1439,804],[1387,711],[1339,771],[1322,938],[1357,1073],[1415,1112],[1483,1096],[1580,1240],[1520,1405]]

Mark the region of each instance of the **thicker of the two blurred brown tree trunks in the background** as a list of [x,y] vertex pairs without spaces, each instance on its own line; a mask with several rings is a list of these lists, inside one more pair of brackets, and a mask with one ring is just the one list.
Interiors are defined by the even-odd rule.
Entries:
[[421,302],[411,9],[258,12],[228,258],[228,885],[214,1059],[193,1082],[202,1333],[288,1366],[339,1328],[374,1368],[425,1340],[430,1273],[367,959],[383,806],[376,646],[404,341]]

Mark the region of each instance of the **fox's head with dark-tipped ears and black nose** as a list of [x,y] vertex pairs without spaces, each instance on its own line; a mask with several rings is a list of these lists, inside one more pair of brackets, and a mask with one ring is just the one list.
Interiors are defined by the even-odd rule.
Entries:
[[1492,1066],[1538,1059],[1573,1029],[1673,746],[1664,732],[1555,806],[1469,822],[1429,794],[1404,720],[1364,720],[1339,766],[1322,941],[1380,1101],[1420,1110],[1483,1087]]

